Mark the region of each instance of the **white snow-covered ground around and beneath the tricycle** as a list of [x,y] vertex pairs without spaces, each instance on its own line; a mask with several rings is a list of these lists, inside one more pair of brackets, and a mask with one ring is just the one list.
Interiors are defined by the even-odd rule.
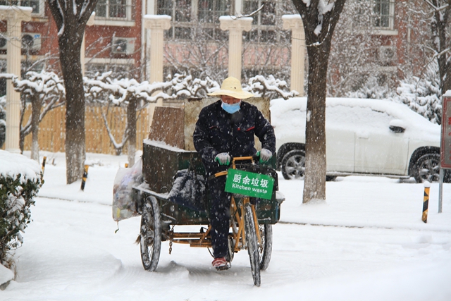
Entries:
[[[30,154],[27,154],[28,156]],[[47,155],[44,186],[16,251],[17,278],[0,300],[451,300],[451,185],[424,188],[376,177],[327,183],[326,204],[302,204],[302,181],[283,180],[271,264],[254,287],[247,252],[218,272],[203,248],[161,246],[144,271],[140,218],[111,218],[113,178],[126,156],[87,154],[85,191],[66,185],[63,154]],[[1,274],[1,271],[0,271]]]

